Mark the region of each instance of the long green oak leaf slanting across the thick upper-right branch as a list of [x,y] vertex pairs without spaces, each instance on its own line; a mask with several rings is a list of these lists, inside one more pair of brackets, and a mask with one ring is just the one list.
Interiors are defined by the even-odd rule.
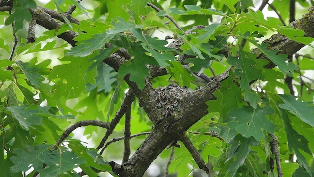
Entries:
[[278,54],[277,51],[274,50],[268,50],[266,49],[266,44],[264,45],[259,45],[253,40],[249,40],[252,44],[254,44],[257,48],[259,48],[268,59],[270,59],[274,64],[278,66],[278,68],[284,73],[287,74],[288,76],[292,76],[294,70],[298,69],[299,67],[296,66],[295,64],[288,62],[286,63],[289,59],[287,58],[287,55],[284,54]]

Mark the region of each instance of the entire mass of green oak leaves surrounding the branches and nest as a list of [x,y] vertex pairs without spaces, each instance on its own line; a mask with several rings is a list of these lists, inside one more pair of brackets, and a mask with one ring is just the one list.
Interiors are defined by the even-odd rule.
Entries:
[[[66,12],[72,3],[76,3],[75,0],[60,1],[51,1],[44,7]],[[304,0],[297,1],[305,7],[310,5]],[[87,15],[88,19],[81,20],[79,25],[67,22],[59,29],[44,32],[31,44],[26,44],[22,38],[11,60],[7,43],[12,39],[0,39],[3,56],[0,60],[0,164],[3,164],[0,174],[10,172],[11,176],[21,176],[21,171],[32,167],[34,171],[29,176],[36,171],[45,177],[76,176],[73,169],[78,166],[89,176],[97,176],[99,171],[111,172],[106,162],[110,161],[107,153],[104,161],[95,149],[86,148],[74,139],[69,139],[67,146],[60,146],[57,150],[53,145],[70,125],[69,120],[107,121],[106,115],[112,118],[128,88],[122,78],[130,76],[130,81],[143,89],[145,78],[152,77],[148,65],[167,68],[174,78],[173,81],[168,80],[169,76],[154,78],[154,87],[175,82],[190,89],[197,85],[191,72],[204,70],[214,78],[209,67],[216,74],[228,67],[234,69],[221,82],[221,88],[213,93],[216,99],[207,102],[209,114],[188,130],[199,132],[198,135],[189,134],[189,137],[203,159],[212,164],[212,172],[219,176],[276,174],[269,166],[270,159],[274,159],[269,147],[272,139],[267,133],[270,133],[278,137],[284,174],[312,174],[314,106],[308,102],[313,102],[314,92],[311,87],[303,91],[305,87],[295,84],[298,93],[303,92],[296,100],[283,83],[285,76],[295,77],[297,83],[305,82],[300,80],[301,72],[296,71],[313,69],[313,61],[304,57],[298,63],[288,62],[287,55],[276,55],[277,51],[269,50],[258,40],[261,41],[261,37],[269,32],[278,32],[305,45],[310,45],[313,38],[304,37],[302,30],[282,26],[276,18],[265,19],[261,11],[249,9],[253,6],[252,0],[171,0],[168,5],[173,8],[166,10],[163,10],[166,0],[151,0],[162,10],[160,12],[148,7],[148,2],[150,0],[98,0],[99,7],[95,8],[93,18]],[[14,23],[13,32],[23,29],[24,20],[31,20],[26,9],[35,9],[36,3],[38,5],[39,2],[15,0],[11,15],[0,14],[6,18],[5,25]],[[201,5],[196,5],[199,3]],[[281,3],[274,0],[272,4],[278,6]],[[88,10],[81,5],[78,7],[73,16],[80,18]],[[285,8],[278,10],[287,20]],[[183,30],[206,26],[183,33],[173,24],[166,24],[168,19],[163,17],[165,15],[174,17],[176,21],[194,20]],[[106,19],[102,20],[104,16]],[[221,21],[208,25],[209,20],[216,18]],[[8,30],[11,26],[5,28],[0,30]],[[78,42],[71,50],[55,38],[67,30],[78,33],[74,39]],[[167,40],[152,37],[152,32],[157,30],[172,34],[183,45],[165,47]],[[49,41],[51,38],[54,40]],[[241,45],[243,40],[247,41],[244,46]],[[105,47],[108,42],[111,45]],[[278,67],[265,68],[270,61],[256,59],[258,56],[251,52],[253,46]],[[126,49],[130,59],[115,72],[117,68],[109,67],[103,60],[120,48]],[[222,55],[219,51],[225,49],[227,54]],[[52,64],[47,54],[56,54],[59,64]],[[190,71],[176,60],[182,55],[194,56],[184,61],[191,66]],[[303,63],[308,63],[304,64],[307,67],[302,68]],[[313,87],[313,84],[313,80],[307,82],[308,86]],[[278,94],[280,89],[283,94]],[[151,122],[136,103],[132,108],[131,132],[150,131]],[[120,133],[122,129],[121,124],[115,131]],[[208,131],[217,132],[220,138],[205,135]],[[102,137],[91,135],[99,132],[102,131],[91,127],[84,131],[95,142]],[[137,145],[132,147],[134,150],[137,148]],[[165,150],[161,157],[168,158],[169,152]],[[120,157],[122,150],[121,154],[115,153],[115,158]],[[297,163],[293,161],[294,154]],[[185,148],[176,148],[170,172],[176,172],[178,176],[189,174],[191,170],[187,165],[191,164],[192,170],[196,167],[191,159]],[[46,165],[43,167],[43,164]]]

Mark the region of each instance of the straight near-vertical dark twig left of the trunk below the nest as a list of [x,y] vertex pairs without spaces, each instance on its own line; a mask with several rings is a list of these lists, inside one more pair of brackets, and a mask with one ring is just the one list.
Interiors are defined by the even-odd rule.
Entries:
[[123,152],[123,159],[122,163],[129,160],[130,156],[130,126],[131,126],[131,107],[128,108],[126,112],[126,121],[124,126],[124,152]]

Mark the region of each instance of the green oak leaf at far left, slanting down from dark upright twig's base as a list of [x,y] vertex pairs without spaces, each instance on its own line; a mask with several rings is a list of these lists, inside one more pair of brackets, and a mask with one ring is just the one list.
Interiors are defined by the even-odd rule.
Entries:
[[25,74],[27,80],[37,89],[43,85],[43,81],[45,80],[38,72],[40,71],[37,67],[29,67],[29,63],[24,63],[22,61],[16,61],[16,64],[21,68],[23,73]]

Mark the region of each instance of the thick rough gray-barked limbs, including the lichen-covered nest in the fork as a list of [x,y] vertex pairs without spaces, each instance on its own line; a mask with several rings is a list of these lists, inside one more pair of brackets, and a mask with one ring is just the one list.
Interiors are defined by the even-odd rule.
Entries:
[[[7,11],[12,7],[12,0],[0,0],[0,10]],[[61,24],[51,15],[44,12],[41,7],[31,10],[36,23],[46,29],[56,29]],[[306,36],[314,36],[314,7],[309,9],[309,13],[303,18],[292,22],[296,29],[301,29]],[[64,39],[69,44],[75,46],[74,37],[77,33],[68,31],[60,34],[58,37]],[[281,34],[275,34],[264,41],[270,44],[268,49],[278,50],[279,53],[293,55],[304,44],[290,40]],[[266,56],[258,49],[253,50],[258,59],[267,59]],[[116,71],[127,61],[124,56],[128,56],[125,50],[120,50],[112,54],[104,62],[114,68]],[[269,63],[267,68],[275,67]],[[157,71],[151,71],[156,73]],[[164,74],[164,73],[163,73]],[[158,74],[154,74],[158,75]],[[147,170],[154,159],[173,141],[180,140],[190,126],[207,114],[206,101],[215,99],[212,93],[220,88],[220,82],[228,78],[228,71],[216,77],[211,83],[202,89],[188,91],[187,89],[169,85],[163,88],[153,89],[150,79],[146,79],[146,86],[143,90],[137,88],[136,84],[125,77],[131,90],[139,99],[140,104],[153,122],[154,127],[149,136],[142,143],[140,148],[131,158],[122,165],[111,162],[113,170],[121,177],[141,177]],[[166,96],[165,96],[166,95]]]

